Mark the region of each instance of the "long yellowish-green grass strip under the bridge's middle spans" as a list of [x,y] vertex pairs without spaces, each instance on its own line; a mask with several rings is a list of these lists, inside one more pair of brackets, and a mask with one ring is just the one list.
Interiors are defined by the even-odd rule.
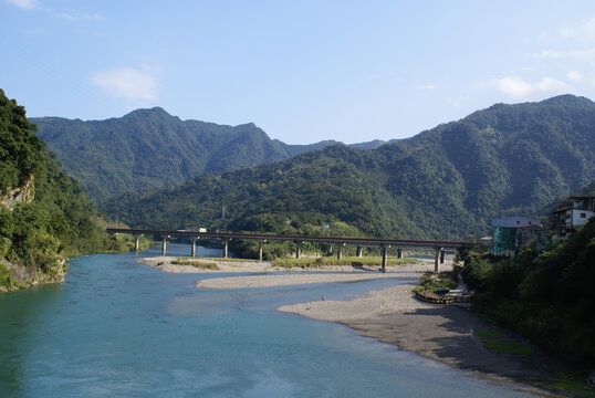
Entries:
[[[416,264],[421,262],[417,259],[388,259],[387,265],[404,265],[404,264]],[[328,265],[351,265],[351,266],[364,266],[364,265],[378,265],[380,266],[383,264],[383,258],[382,256],[365,256],[365,258],[358,258],[358,256],[345,256],[343,259],[337,259],[336,256],[324,256],[324,258],[303,258],[303,259],[291,259],[291,258],[282,258],[282,259],[274,259],[271,261],[271,264],[273,266],[281,266],[281,268],[320,268],[320,266],[328,266]]]

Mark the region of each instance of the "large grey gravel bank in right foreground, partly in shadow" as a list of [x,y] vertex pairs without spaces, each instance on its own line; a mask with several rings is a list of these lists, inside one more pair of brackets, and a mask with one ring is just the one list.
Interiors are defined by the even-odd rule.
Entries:
[[504,333],[480,321],[464,306],[436,305],[418,301],[414,284],[368,292],[349,301],[316,301],[284,305],[279,311],[313,320],[336,322],[363,336],[396,345],[427,358],[476,373],[478,376],[514,383],[540,396],[551,392],[526,387],[547,381],[560,370],[550,358],[487,349],[472,331]]

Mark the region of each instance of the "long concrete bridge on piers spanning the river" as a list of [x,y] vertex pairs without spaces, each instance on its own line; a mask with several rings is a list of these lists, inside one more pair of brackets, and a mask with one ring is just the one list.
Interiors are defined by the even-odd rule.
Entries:
[[167,251],[168,237],[187,237],[192,241],[191,256],[196,254],[196,241],[200,238],[220,239],[223,242],[223,258],[228,258],[228,244],[232,239],[248,239],[259,242],[259,261],[262,261],[262,244],[269,241],[294,242],[296,245],[295,258],[300,258],[301,247],[304,242],[323,243],[337,247],[337,259],[343,255],[344,247],[355,247],[356,255],[362,256],[362,248],[380,248],[383,252],[382,271],[386,272],[387,250],[397,248],[397,258],[403,258],[404,249],[430,249],[435,251],[434,271],[440,271],[440,264],[445,262],[445,250],[457,250],[461,245],[486,245],[481,242],[466,241],[438,241],[438,240],[410,240],[410,239],[379,239],[379,238],[349,238],[349,237],[309,237],[309,235],[281,235],[259,232],[198,232],[186,230],[152,230],[152,229],[126,229],[108,228],[108,233],[131,233],[135,235],[135,249],[138,251],[138,238],[143,234],[160,235],[163,238],[161,254]]

